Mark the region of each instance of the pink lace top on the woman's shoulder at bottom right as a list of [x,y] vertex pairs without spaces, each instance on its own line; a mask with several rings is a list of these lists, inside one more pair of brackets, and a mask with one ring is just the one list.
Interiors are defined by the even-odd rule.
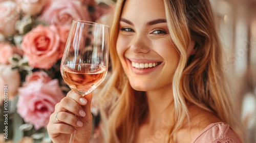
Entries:
[[202,130],[191,143],[242,143],[240,137],[226,123],[212,123]]

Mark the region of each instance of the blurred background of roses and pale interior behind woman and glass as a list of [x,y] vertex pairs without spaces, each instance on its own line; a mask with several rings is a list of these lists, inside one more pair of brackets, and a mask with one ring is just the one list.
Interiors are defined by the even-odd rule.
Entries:
[[[248,131],[248,143],[254,143],[256,0],[210,2],[225,51],[223,69]],[[0,0],[0,99],[5,101],[7,85],[9,111],[4,117],[5,102],[0,102],[0,143],[51,142],[46,131],[49,116],[69,91],[59,63],[72,19],[109,24],[114,4],[112,0]],[[54,91],[49,93],[51,88]],[[4,138],[6,119],[8,139]]]

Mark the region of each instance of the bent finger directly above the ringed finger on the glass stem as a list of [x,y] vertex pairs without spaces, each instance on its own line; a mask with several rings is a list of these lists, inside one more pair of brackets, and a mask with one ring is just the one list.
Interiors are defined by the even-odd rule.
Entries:
[[80,116],[80,117],[86,116],[86,113],[82,109],[81,105],[70,97],[65,97],[65,98],[61,99],[60,109],[57,109],[57,110],[59,110],[59,111],[67,110],[67,111],[74,113],[77,116]]

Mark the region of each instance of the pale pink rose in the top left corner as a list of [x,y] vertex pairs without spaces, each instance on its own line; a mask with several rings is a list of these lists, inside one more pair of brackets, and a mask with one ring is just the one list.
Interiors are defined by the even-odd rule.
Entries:
[[0,32],[5,36],[13,35],[19,13],[16,11],[16,3],[12,1],[0,2]]

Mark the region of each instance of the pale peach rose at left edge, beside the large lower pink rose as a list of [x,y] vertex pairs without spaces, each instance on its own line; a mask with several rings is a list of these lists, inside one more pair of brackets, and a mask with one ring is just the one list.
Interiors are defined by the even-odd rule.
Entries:
[[[12,70],[11,65],[0,64],[0,95],[4,98],[4,85],[8,85],[8,98],[11,100],[20,87],[20,74],[17,70]],[[1,100],[2,101],[2,100]]]

